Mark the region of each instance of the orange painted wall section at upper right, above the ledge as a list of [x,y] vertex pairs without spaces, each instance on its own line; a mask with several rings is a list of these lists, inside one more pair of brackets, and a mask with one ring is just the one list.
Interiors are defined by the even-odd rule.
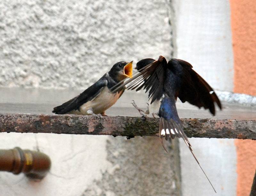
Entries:
[[234,92],[256,95],[256,1],[230,0]]

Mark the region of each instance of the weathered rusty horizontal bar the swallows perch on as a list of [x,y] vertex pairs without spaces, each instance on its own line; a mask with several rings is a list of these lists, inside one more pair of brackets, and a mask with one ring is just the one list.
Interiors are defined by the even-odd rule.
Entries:
[[[188,137],[256,140],[256,121],[182,119]],[[159,118],[0,114],[0,132],[157,136]]]

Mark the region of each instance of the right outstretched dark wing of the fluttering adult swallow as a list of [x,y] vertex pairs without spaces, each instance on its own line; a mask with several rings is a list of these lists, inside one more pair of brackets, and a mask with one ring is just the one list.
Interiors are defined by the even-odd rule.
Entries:
[[188,62],[180,59],[171,59],[168,62],[170,66],[181,66],[181,85],[178,92],[178,97],[182,103],[188,101],[188,103],[195,105],[199,108],[209,109],[210,112],[215,115],[216,103],[221,109],[221,103],[212,87],[193,69],[192,65]]

